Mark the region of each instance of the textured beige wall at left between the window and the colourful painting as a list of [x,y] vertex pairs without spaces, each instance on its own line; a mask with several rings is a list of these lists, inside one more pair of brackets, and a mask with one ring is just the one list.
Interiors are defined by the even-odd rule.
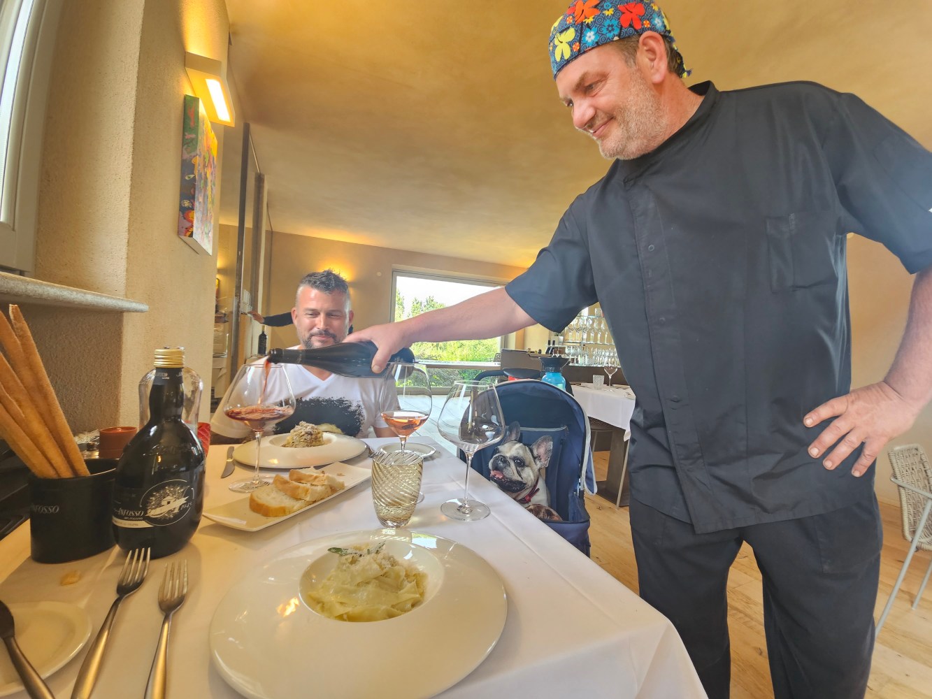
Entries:
[[192,91],[185,49],[226,60],[228,21],[223,0],[98,0],[65,3],[59,27],[35,276],[150,308],[23,306],[71,427],[82,431],[136,424],[136,385],[163,345],[184,346],[210,381],[216,261],[175,231]]

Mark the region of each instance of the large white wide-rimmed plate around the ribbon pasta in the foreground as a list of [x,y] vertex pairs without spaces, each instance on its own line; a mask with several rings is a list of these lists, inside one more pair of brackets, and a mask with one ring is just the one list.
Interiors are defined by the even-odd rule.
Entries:
[[[382,622],[340,622],[310,610],[298,590],[305,571],[332,568],[331,546],[377,541],[427,573],[425,601]],[[407,529],[344,532],[282,551],[235,584],[213,614],[211,657],[252,699],[418,699],[482,663],[506,613],[498,574],[462,544]]]

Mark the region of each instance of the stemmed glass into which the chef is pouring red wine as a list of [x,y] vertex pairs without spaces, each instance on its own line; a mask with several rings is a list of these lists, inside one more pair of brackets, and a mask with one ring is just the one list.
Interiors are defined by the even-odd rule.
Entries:
[[269,482],[259,477],[262,433],[295,412],[295,393],[285,367],[268,362],[243,364],[221,408],[227,418],[246,423],[255,435],[253,477],[230,485],[234,492],[250,493]]

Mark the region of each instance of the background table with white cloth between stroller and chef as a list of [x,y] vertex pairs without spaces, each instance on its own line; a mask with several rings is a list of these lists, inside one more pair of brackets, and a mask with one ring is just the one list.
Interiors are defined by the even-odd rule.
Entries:
[[573,386],[573,396],[583,406],[590,418],[609,424],[611,445],[609,451],[609,473],[605,481],[598,483],[598,495],[615,503],[626,505],[628,494],[628,439],[631,416],[635,410],[635,394],[628,386],[612,386],[594,389],[590,386]]

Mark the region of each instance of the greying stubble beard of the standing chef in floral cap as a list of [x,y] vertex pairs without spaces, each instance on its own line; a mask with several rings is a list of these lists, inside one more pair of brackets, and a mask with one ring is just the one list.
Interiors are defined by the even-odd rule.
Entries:
[[[598,143],[602,158],[632,160],[650,153],[663,143],[664,110],[647,79],[632,71],[633,84],[624,103],[612,114],[612,132]],[[602,115],[593,120],[598,123]]]

